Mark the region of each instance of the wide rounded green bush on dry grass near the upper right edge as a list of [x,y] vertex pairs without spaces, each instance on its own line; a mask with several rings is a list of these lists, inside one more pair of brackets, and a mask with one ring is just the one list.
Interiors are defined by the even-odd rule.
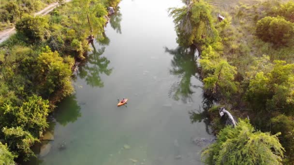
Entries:
[[294,24],[282,17],[265,17],[256,24],[256,35],[276,45],[292,45]]

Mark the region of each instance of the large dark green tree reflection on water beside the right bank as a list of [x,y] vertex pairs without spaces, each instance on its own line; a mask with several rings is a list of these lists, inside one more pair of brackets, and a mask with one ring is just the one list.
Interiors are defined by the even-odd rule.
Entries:
[[175,100],[181,99],[183,102],[191,102],[192,88],[199,88],[200,86],[192,85],[191,78],[195,77],[199,80],[199,69],[196,64],[195,50],[190,48],[177,47],[176,49],[168,49],[165,47],[165,52],[174,56],[171,61],[172,69],[170,74],[178,76],[179,82],[171,86],[169,95]]

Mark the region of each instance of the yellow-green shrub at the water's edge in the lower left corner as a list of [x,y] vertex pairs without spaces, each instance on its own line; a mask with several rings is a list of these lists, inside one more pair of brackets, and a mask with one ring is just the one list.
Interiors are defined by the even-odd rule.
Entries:
[[28,131],[24,131],[18,126],[12,128],[4,127],[2,132],[10,150],[19,151],[19,153],[23,154],[25,160],[35,155],[30,150],[30,147],[39,140],[34,138]]

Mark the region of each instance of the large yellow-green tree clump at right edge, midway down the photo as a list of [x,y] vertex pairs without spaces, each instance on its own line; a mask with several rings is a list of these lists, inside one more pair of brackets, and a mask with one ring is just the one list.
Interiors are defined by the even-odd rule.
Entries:
[[266,68],[253,75],[248,73],[251,79],[246,99],[255,108],[293,114],[294,64],[276,60],[272,67]]

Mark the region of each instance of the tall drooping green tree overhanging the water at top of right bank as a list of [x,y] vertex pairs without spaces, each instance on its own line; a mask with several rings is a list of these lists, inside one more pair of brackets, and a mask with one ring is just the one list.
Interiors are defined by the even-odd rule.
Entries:
[[204,0],[191,0],[182,8],[170,8],[169,12],[176,24],[177,42],[180,46],[210,43],[219,38],[213,25],[211,7]]

